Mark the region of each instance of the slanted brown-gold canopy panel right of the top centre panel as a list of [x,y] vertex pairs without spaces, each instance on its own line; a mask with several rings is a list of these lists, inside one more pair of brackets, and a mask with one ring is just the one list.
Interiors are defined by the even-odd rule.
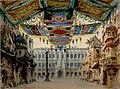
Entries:
[[76,10],[87,16],[93,17],[94,19],[104,20],[110,13],[108,8],[96,6],[92,3],[89,3],[87,0],[79,0],[78,2],[79,5],[76,7]]

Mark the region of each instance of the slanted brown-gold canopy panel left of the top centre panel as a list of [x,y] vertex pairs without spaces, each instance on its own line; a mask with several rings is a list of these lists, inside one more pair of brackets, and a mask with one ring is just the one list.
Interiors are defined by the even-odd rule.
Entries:
[[[26,8],[27,7],[27,8]],[[17,23],[25,18],[30,17],[31,15],[37,13],[38,9],[41,8],[39,0],[32,0],[31,2],[22,5],[18,8],[15,8],[9,12],[7,12],[10,19],[13,23]],[[17,12],[17,13],[16,13]]]

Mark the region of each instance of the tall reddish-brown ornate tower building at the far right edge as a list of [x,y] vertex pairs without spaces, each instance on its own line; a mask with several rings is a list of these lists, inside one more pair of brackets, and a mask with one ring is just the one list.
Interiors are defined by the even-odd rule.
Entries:
[[119,83],[120,70],[120,13],[109,23],[103,33],[103,84],[114,87]]

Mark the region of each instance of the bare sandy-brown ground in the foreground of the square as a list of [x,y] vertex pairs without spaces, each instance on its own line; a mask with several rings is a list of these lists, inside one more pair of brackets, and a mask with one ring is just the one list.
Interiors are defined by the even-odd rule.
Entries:
[[51,79],[51,82],[37,80],[29,84],[23,84],[15,88],[5,89],[108,89],[107,87],[87,81],[82,81],[79,78],[73,79]]

